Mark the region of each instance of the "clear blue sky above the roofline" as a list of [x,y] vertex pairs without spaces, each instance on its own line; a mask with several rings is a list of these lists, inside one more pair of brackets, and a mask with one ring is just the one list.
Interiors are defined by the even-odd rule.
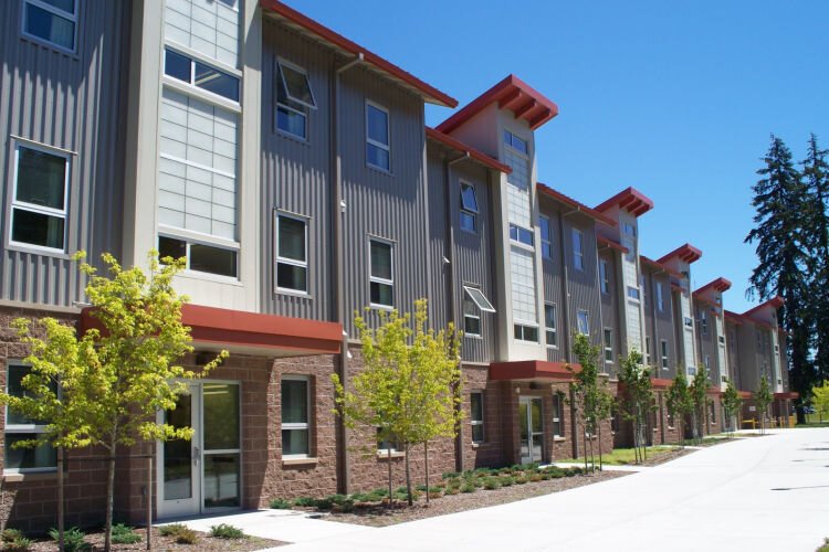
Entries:
[[[596,205],[632,185],[655,203],[642,253],[690,242],[694,287],[724,276],[725,307],[756,264],[743,244],[772,132],[829,147],[829,2],[287,0],[463,106],[510,73],[559,116],[536,131],[538,178]],[[427,124],[452,112],[428,106]]]

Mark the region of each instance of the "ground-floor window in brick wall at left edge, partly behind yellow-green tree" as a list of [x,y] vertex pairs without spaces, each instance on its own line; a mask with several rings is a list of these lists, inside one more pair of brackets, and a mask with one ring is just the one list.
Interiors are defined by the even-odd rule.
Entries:
[[[29,367],[10,362],[7,374],[6,390],[12,396],[25,396],[29,392],[23,388],[23,378],[30,372]],[[56,384],[50,385],[56,391]],[[14,448],[14,443],[32,440],[45,433],[42,420],[27,418],[17,412],[6,410],[6,463],[7,473],[20,471],[51,471],[57,466],[55,448],[43,444],[33,448]]]

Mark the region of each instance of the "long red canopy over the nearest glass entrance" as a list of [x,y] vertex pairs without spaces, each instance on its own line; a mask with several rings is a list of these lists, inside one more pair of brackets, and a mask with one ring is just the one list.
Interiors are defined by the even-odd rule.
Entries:
[[[190,327],[193,342],[231,351],[264,354],[339,353],[343,326],[335,322],[182,305],[181,322]],[[94,308],[81,312],[81,330],[102,329]]]

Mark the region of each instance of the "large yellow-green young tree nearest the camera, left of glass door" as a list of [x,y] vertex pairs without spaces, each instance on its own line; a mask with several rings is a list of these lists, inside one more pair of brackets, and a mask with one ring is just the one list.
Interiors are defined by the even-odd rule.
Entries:
[[[76,256],[84,258],[83,253]],[[82,262],[88,276],[86,297],[99,329],[76,336],[74,328],[52,318],[42,319],[45,339],[35,337],[25,320],[19,320],[23,342],[31,347],[25,359],[31,372],[23,378],[25,396],[0,393],[0,402],[15,412],[48,421],[36,440],[20,446],[50,443],[56,447],[102,447],[108,456],[106,538],[112,548],[115,456],[119,446],[138,440],[189,439],[192,429],[156,422],[156,413],[171,410],[187,391],[181,380],[208,373],[224,358],[222,351],[197,373],[176,362],[192,352],[190,329],[181,323],[187,300],[172,288],[183,259],[149,254],[149,274],[138,267],[124,269],[115,257],[102,255],[107,276]]]

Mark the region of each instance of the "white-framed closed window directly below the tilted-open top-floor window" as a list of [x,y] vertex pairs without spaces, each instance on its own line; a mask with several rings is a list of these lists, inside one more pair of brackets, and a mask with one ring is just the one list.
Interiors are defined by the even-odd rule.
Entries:
[[276,215],[276,288],[308,291],[308,229],[296,216]]

